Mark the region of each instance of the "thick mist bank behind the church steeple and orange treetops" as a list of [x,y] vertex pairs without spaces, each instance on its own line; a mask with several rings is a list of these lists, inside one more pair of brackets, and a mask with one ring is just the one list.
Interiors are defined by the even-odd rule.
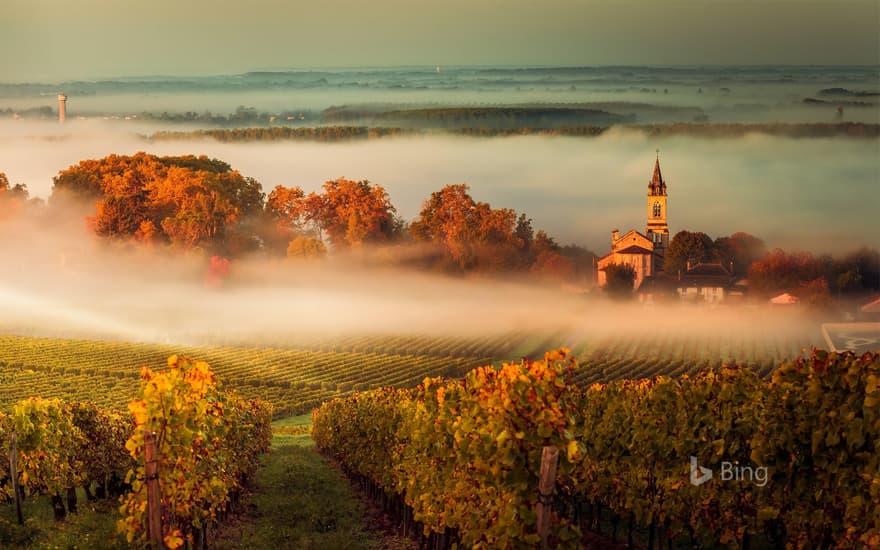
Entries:
[[[149,133],[154,127],[136,126]],[[464,138],[428,135],[340,143],[149,142],[124,123],[0,123],[0,171],[47,197],[52,177],[85,158],[147,151],[205,154],[259,180],[318,190],[331,179],[368,179],[412,220],[450,183],[476,200],[525,212],[562,243],[604,254],[610,231],[644,230],[655,149],[669,189],[670,230],[713,237],[746,231],[768,246],[840,253],[880,242],[877,140],[651,138],[612,130],[600,137]]]

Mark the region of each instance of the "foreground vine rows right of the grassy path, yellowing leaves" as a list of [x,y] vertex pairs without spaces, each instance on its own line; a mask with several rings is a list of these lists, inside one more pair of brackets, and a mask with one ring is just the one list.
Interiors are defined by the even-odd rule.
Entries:
[[434,548],[534,548],[550,504],[561,548],[608,522],[649,549],[880,548],[880,355],[584,388],[566,354],[336,399],[313,437]]

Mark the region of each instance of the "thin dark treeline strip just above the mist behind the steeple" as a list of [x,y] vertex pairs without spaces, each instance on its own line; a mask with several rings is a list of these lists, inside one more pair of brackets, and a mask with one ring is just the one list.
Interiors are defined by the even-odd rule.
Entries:
[[863,122],[840,123],[773,123],[773,124],[657,124],[657,125],[621,125],[621,126],[562,126],[559,128],[449,128],[435,130],[419,130],[412,128],[369,128],[366,126],[318,126],[300,128],[280,126],[273,128],[217,128],[194,130],[190,132],[156,132],[147,139],[151,141],[214,139],[221,142],[254,142],[254,141],[347,141],[355,139],[375,139],[383,137],[420,136],[431,134],[461,135],[473,137],[507,137],[507,136],[572,136],[593,137],[607,132],[611,128],[623,129],[628,132],[642,132],[651,137],[662,136],[693,136],[702,138],[741,137],[747,134],[765,134],[791,138],[825,138],[825,137],[880,137],[880,124]]

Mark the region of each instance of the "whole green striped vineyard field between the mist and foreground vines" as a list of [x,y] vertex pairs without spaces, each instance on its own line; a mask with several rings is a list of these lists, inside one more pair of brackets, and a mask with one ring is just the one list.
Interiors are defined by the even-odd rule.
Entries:
[[766,376],[781,360],[819,344],[820,338],[795,330],[684,336],[669,328],[589,339],[524,334],[483,340],[365,336],[290,340],[268,344],[271,347],[192,347],[0,336],[0,409],[32,396],[124,407],[137,391],[141,368],[164,368],[172,354],[207,361],[227,387],[270,401],[280,417],[355,391],[412,387],[428,376],[459,377],[478,366],[537,358],[561,346],[572,348],[578,358],[574,376],[580,384],[678,376],[733,362]]

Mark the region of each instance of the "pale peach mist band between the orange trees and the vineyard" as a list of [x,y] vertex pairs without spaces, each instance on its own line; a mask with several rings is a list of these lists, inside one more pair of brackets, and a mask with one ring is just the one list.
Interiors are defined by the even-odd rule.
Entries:
[[667,337],[785,330],[809,342],[817,332],[814,320],[766,309],[659,311],[599,292],[368,267],[341,255],[235,260],[216,288],[205,284],[203,254],[109,243],[74,219],[0,224],[0,257],[0,331],[18,334],[187,345],[519,335],[574,346],[628,331],[657,333],[658,315]]

